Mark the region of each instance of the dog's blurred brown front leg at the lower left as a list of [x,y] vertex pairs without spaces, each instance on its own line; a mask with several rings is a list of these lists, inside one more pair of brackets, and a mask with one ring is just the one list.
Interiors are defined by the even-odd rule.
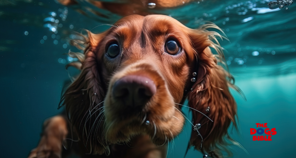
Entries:
[[28,158],[60,158],[62,140],[67,134],[67,122],[63,117],[54,116],[46,120],[39,144],[31,150]]

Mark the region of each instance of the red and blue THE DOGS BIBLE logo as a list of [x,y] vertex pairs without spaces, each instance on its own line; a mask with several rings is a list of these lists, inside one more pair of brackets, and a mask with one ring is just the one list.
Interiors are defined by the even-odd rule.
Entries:
[[[262,128],[258,128],[257,130],[253,129],[253,128],[250,128],[250,134],[251,135],[259,134],[259,136],[256,136],[256,135],[253,136],[253,141],[254,140],[271,141],[271,136],[276,135],[276,128],[272,128],[272,129],[267,128],[267,123],[265,123],[265,124],[257,123],[256,125],[257,125],[257,127],[262,127]],[[265,128],[265,129],[263,129],[263,128]],[[267,136],[262,136],[263,133],[265,133]]]

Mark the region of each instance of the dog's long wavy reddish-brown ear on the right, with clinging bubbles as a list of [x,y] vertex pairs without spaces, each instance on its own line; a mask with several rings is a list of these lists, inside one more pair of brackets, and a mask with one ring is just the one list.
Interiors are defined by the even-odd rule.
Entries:
[[[192,85],[191,93],[188,94],[188,100],[191,108],[205,113],[213,122],[197,111],[193,111],[194,125],[201,125],[198,131],[202,137],[196,129],[193,129],[189,145],[213,157],[219,157],[222,150],[231,156],[226,145],[229,144],[227,139],[230,141],[233,139],[230,138],[227,130],[231,122],[237,128],[235,121],[237,105],[229,92],[229,86],[235,89],[236,87],[231,83],[233,78],[229,72],[218,65],[218,62],[223,65],[225,58],[215,36],[221,39],[225,37],[217,32],[205,30],[207,28],[219,29],[216,25],[206,24],[200,29],[189,29],[188,32],[198,58],[197,65],[193,68],[197,71],[196,81]],[[210,47],[214,48],[218,55],[213,55]]]

